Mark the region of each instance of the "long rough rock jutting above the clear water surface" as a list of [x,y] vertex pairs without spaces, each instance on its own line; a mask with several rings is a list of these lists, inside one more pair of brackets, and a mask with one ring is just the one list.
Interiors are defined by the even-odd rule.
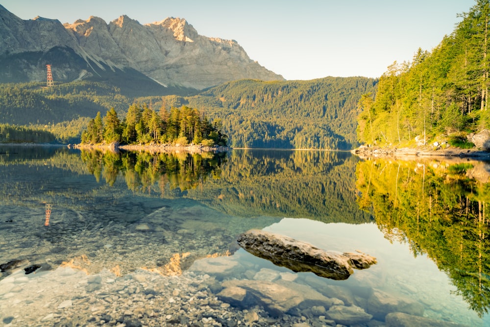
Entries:
[[376,263],[375,257],[362,252],[327,252],[291,237],[258,229],[240,234],[237,242],[247,252],[277,266],[336,280],[347,279],[354,273],[353,268],[366,269]]

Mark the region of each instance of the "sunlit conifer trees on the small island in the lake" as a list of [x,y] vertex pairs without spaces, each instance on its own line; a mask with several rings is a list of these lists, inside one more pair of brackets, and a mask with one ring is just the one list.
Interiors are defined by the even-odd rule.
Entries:
[[170,112],[161,108],[159,112],[147,104],[129,106],[123,122],[114,108],[102,119],[100,112],[82,132],[82,143],[148,144],[189,143],[205,146],[226,146],[227,136],[221,132],[221,121],[211,122],[206,115],[186,106],[172,107]]

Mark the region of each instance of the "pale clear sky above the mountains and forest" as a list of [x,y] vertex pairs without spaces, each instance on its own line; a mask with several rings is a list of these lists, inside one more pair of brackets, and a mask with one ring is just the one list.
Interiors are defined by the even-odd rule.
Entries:
[[185,18],[200,35],[234,39],[286,79],[378,77],[451,34],[475,0],[0,0],[22,19],[73,23],[127,15],[141,24]]

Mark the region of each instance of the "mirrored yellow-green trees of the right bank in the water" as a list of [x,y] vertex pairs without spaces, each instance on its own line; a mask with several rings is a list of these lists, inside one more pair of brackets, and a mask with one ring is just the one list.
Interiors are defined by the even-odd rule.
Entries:
[[484,162],[359,162],[360,207],[390,240],[446,272],[479,315],[490,308],[490,174]]

